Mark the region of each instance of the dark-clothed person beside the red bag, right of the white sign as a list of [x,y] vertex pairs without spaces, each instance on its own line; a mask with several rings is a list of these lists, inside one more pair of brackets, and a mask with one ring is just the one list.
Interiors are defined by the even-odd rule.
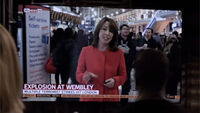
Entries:
[[[66,28],[59,37],[61,40],[57,43],[53,51],[53,65],[61,75],[61,84],[67,84],[69,78],[72,84],[76,84],[75,79],[75,39],[72,28]],[[59,83],[59,81],[58,81]]]

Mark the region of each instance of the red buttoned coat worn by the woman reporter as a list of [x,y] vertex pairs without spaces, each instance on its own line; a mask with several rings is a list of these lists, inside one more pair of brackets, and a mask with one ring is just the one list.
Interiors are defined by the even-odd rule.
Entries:
[[[98,75],[98,78],[92,78],[88,84],[94,84],[93,89],[99,90],[99,94],[119,95],[118,86],[123,85],[126,80],[124,54],[120,49],[112,52],[99,51],[93,46],[84,47],[76,71],[76,79],[81,84],[85,84],[82,80],[85,71]],[[104,86],[104,81],[109,78],[115,80],[113,88]],[[119,98],[81,98],[81,101],[119,101]]]

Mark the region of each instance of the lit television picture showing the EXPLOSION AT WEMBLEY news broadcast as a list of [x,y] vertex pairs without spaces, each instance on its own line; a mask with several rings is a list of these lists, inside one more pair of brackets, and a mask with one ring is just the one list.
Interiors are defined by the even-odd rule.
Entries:
[[[162,9],[19,5],[23,101],[132,103],[140,89],[155,85],[152,92],[164,89],[167,100],[180,103],[181,14]],[[137,58],[151,49],[166,56],[169,72],[164,73],[164,64],[156,65],[158,60],[139,69],[143,62]]]

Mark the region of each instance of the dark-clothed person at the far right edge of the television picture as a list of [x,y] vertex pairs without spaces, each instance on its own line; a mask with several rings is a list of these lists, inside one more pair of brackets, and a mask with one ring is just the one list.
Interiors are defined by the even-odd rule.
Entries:
[[169,59],[169,80],[166,87],[166,94],[168,98],[175,98],[177,95],[178,83],[181,81],[181,44],[178,40],[178,32],[174,31],[172,37],[168,42],[171,44],[167,57]]

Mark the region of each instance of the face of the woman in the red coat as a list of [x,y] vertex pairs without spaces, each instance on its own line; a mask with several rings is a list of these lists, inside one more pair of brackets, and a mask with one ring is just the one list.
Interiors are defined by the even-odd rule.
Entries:
[[109,22],[105,22],[99,32],[99,43],[109,44],[113,38],[113,33],[110,32]]

